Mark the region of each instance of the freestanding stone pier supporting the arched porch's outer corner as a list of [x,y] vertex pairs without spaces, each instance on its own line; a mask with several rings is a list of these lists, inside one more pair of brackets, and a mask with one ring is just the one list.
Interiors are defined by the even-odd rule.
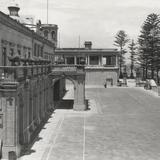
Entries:
[[74,86],[74,106],[76,111],[84,111],[87,109],[85,103],[85,78],[84,75],[77,76]]

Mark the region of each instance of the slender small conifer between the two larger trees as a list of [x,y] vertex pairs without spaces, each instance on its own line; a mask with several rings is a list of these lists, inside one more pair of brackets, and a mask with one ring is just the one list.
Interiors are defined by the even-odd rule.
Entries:
[[128,48],[130,50],[130,60],[131,60],[131,65],[130,65],[131,75],[130,75],[130,78],[134,78],[133,70],[134,70],[135,62],[137,60],[137,57],[136,57],[137,46],[136,46],[133,39],[132,39],[131,43],[129,44]]

